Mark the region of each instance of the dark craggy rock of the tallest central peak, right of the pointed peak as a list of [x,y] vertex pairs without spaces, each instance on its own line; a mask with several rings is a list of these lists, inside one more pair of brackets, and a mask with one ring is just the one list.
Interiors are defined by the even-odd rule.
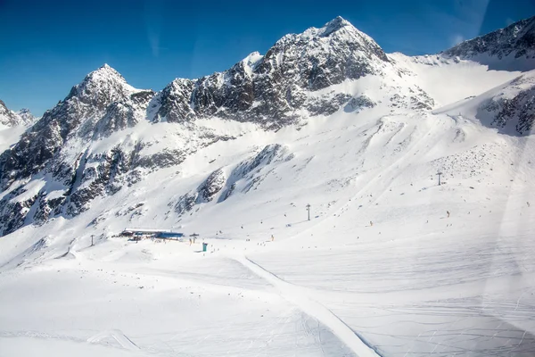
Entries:
[[[333,112],[309,95],[346,79],[381,74],[390,65],[383,49],[349,21],[337,17],[324,27],[279,39],[265,55],[253,52],[227,71],[201,79],[176,79],[161,92],[158,118],[185,122],[201,117],[254,121],[278,129],[311,115]],[[325,112],[321,106],[329,107]]]

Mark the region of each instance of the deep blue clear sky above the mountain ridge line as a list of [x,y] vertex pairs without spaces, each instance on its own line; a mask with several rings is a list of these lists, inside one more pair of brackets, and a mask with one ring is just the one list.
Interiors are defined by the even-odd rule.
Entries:
[[104,62],[160,90],[337,15],[388,53],[428,54],[534,14],[535,0],[0,0],[0,99],[41,115]]

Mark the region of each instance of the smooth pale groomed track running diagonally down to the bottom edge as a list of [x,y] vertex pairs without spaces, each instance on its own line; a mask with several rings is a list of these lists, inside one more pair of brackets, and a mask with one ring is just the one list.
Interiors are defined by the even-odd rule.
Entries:
[[334,315],[332,311],[307,296],[303,288],[278,278],[275,274],[265,270],[259,266],[259,264],[252,262],[245,256],[237,256],[234,257],[234,259],[235,261],[242,263],[245,268],[251,270],[260,278],[264,278],[268,283],[275,286],[278,294],[285,300],[295,304],[301,311],[323,323],[327,328],[330,328],[334,336],[337,336],[342,343],[347,345],[358,357],[380,357],[380,354],[377,353],[372,346],[367,345],[366,341]]

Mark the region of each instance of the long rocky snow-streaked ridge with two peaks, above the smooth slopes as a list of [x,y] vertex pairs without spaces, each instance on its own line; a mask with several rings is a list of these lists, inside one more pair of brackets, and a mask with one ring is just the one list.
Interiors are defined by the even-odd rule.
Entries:
[[[5,235],[28,222],[78,216],[97,197],[114,195],[154,170],[178,166],[210,145],[247,133],[299,130],[312,118],[338,112],[427,115],[435,101],[421,87],[420,74],[392,58],[337,17],[322,28],[286,35],[266,54],[251,53],[227,71],[174,79],[159,92],[132,87],[103,64],[0,155],[0,230]],[[523,113],[523,130],[531,128],[530,115]],[[270,153],[279,146],[265,149]],[[240,180],[251,179],[228,175],[232,183],[224,171],[214,170],[196,189],[178,195],[173,203],[180,207],[178,215],[210,203],[214,192],[225,192],[215,200],[223,203],[241,187],[236,186]],[[32,178],[43,177],[45,185],[36,195],[16,199]],[[241,189],[257,185],[249,182]],[[58,194],[48,195],[50,187]]]

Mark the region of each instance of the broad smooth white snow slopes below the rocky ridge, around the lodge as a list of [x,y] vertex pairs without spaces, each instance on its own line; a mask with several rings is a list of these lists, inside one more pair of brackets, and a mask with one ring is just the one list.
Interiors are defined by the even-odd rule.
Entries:
[[[422,85],[433,112],[233,123],[242,137],[1,237],[0,356],[535,355],[533,137],[446,106],[519,73],[422,62],[451,79]],[[270,144],[247,192],[178,220],[169,202]],[[116,237],[127,227],[200,238]]]

